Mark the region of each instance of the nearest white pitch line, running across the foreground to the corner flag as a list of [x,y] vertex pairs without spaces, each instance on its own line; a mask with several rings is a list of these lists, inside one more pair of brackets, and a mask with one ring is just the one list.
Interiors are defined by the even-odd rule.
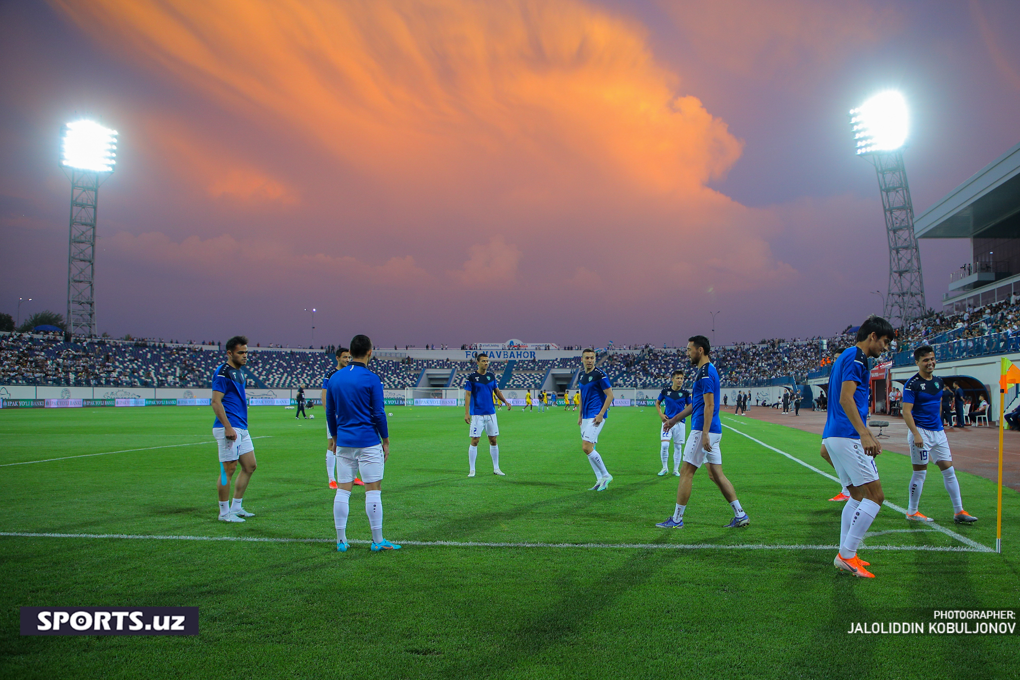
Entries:
[[[336,543],[334,538],[261,538],[257,536],[161,536],[131,533],[34,533],[27,531],[0,531],[0,536],[29,538],[148,538],[150,540],[231,540],[251,543]],[[367,545],[370,540],[350,540]],[[457,540],[398,540],[398,545],[423,545],[446,547],[612,547],[667,551],[836,551],[838,545],[717,545],[715,543],[486,543]],[[980,553],[972,547],[958,545],[868,545],[869,551],[925,551],[931,553]]]

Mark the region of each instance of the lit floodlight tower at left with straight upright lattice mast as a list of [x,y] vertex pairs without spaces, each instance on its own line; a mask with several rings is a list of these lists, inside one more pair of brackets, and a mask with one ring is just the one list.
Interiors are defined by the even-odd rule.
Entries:
[[99,186],[113,172],[117,132],[92,120],[63,127],[60,165],[70,178],[70,236],[67,247],[67,330],[96,334],[96,207]]

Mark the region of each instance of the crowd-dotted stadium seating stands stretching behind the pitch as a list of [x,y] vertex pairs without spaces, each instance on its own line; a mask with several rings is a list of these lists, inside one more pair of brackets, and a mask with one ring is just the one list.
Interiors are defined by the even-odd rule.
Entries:
[[[829,338],[789,342],[773,338],[716,347],[712,357],[722,383],[727,386],[763,384],[786,377],[801,382],[809,373],[812,376],[823,373],[820,364],[854,343],[853,330],[848,327]],[[1020,351],[1020,296],[959,313],[938,312],[919,319],[903,331],[885,358],[892,359],[897,366],[909,365],[913,361],[913,348],[921,344],[934,346],[939,361]],[[335,365],[328,351],[253,350],[248,368],[270,388],[293,388],[299,384],[317,387],[322,375]],[[0,384],[207,387],[213,369],[222,360],[221,352],[203,350],[198,344],[109,338],[65,343],[59,333],[0,333]],[[576,357],[515,361],[503,387],[539,388],[551,368],[578,365]],[[636,353],[618,349],[602,352],[599,366],[613,384],[630,387],[665,384],[674,368],[688,368],[682,349],[662,350],[650,345],[642,346]],[[459,387],[474,370],[474,363],[376,357],[371,368],[390,389],[414,386],[426,368],[456,369],[453,386]],[[506,363],[493,362],[490,368],[502,378]]]

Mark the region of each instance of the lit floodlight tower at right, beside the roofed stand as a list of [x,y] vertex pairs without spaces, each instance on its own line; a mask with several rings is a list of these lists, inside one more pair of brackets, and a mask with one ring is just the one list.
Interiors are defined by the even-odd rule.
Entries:
[[903,146],[907,141],[907,102],[899,92],[880,92],[850,112],[857,155],[878,175],[889,243],[889,285],[884,315],[906,325],[924,315],[921,254],[914,236],[914,205],[910,200]]

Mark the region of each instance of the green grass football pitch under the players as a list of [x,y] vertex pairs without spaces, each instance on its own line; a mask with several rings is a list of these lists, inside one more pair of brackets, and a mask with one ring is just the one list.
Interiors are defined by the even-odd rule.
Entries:
[[[615,480],[588,491],[576,414],[499,414],[501,467],[466,478],[467,426],[453,408],[391,407],[385,531],[402,541],[573,543],[396,553],[330,542],[325,422],[251,409],[256,516],[216,521],[208,408],[0,411],[0,531],[317,538],[320,542],[0,536],[0,676],[10,678],[1007,678],[1020,637],[850,635],[850,622],[930,621],[934,609],[1018,609],[1020,500],[1005,491],[1004,553],[936,531],[910,532],[883,508],[861,555],[877,578],[832,567],[838,488],[724,430],[723,468],[750,514],[700,472],[687,526],[669,515],[676,478],[657,477],[654,409],[614,409],[598,450]],[[723,416],[819,468],[819,438]],[[171,447],[155,449],[154,447]],[[144,449],[103,456],[26,461]],[[671,463],[670,463],[671,465]],[[910,461],[878,459],[887,499],[905,505]],[[994,484],[959,474],[973,526],[952,523],[938,475],[921,510],[994,545]],[[363,490],[348,536],[369,537]],[[654,545],[703,545],[664,550]],[[602,546],[604,545],[604,546]],[[628,546],[629,545],[629,546]],[[786,546],[733,550],[734,545]],[[869,550],[868,546],[872,546]],[[905,550],[877,550],[900,546]],[[197,606],[194,637],[21,637],[19,606]]]

